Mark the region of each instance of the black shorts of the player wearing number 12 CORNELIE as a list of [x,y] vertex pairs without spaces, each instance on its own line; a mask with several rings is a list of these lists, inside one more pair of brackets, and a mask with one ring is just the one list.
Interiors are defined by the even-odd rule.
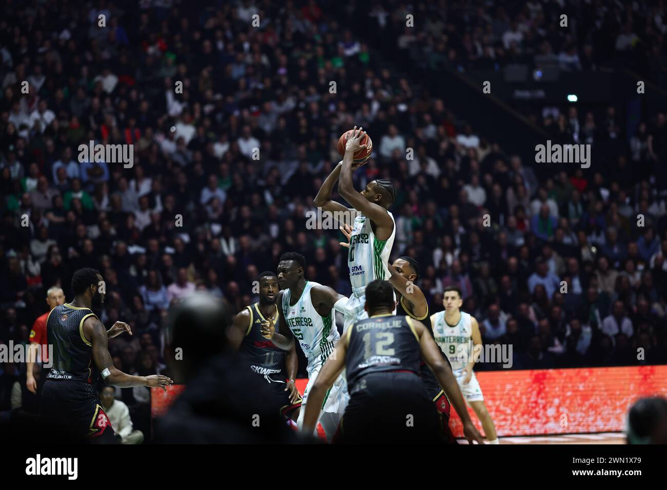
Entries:
[[442,418],[416,373],[368,373],[350,391],[335,441],[442,444]]

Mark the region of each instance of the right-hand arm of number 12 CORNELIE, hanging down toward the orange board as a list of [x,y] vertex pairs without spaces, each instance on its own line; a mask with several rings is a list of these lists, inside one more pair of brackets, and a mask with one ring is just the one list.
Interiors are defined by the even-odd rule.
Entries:
[[418,321],[414,321],[412,318],[408,318],[408,323],[412,325],[416,331],[419,341],[420,341],[420,350],[422,351],[422,358],[426,365],[431,368],[440,387],[444,390],[448,399],[454,405],[456,413],[461,417],[461,421],[464,427],[464,436],[468,439],[468,443],[472,444],[472,441],[475,440],[480,444],[484,444],[484,439],[482,435],[473,425],[472,420],[470,419],[470,414],[466,407],[466,402],[463,399],[458,383],[456,383],[456,378],[454,373],[452,373],[452,368],[442,359],[442,355],[438,350],[438,345],[434,341],[433,337],[428,334],[426,327]]

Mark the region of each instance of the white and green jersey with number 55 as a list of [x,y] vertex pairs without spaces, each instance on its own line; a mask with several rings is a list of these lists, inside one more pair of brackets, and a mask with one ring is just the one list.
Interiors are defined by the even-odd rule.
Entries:
[[290,305],[291,291],[283,293],[283,316],[287,327],[299,341],[301,349],[308,359],[308,365],[324,363],[336,345],[340,334],[336,329],[336,317],[333,308],[326,317],[319,316],[310,298],[310,290],[319,283],[305,281],[301,297]]

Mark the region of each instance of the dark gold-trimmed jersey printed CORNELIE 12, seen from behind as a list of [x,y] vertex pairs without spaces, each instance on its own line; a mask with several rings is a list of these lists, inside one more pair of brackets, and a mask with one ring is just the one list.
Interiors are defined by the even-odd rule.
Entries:
[[345,362],[350,393],[368,373],[419,373],[419,340],[406,317],[383,315],[364,319],[349,327],[346,335],[349,343]]

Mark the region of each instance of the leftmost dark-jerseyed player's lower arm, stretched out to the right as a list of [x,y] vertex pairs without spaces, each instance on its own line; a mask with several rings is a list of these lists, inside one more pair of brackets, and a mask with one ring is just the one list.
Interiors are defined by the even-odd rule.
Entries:
[[109,337],[102,322],[97,318],[89,317],[83,322],[83,335],[90,339],[93,345],[93,361],[108,385],[121,388],[134,386],[162,387],[167,391],[167,386],[173,385],[173,381],[166,376],[131,376],[116,369],[109,354]]

